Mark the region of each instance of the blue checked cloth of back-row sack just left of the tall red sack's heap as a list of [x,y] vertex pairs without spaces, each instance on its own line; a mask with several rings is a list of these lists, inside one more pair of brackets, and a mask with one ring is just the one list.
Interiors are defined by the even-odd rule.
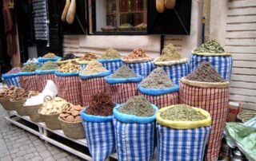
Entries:
[[170,65],[170,66],[156,65],[156,67],[161,67],[162,69],[164,69],[167,75],[170,77],[170,80],[174,82],[174,84],[178,84],[179,80],[182,77],[186,77],[190,72],[189,64],[187,62],[182,64]]

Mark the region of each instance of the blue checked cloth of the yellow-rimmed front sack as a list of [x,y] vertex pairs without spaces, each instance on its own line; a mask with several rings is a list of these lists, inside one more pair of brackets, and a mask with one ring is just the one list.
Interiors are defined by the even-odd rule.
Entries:
[[210,127],[174,129],[156,125],[158,160],[203,160]]

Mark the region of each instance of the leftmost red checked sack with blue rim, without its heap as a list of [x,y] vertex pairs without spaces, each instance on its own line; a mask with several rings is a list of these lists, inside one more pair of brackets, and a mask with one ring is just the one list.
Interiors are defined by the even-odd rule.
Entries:
[[38,77],[35,72],[18,73],[21,88],[27,91],[38,91]]

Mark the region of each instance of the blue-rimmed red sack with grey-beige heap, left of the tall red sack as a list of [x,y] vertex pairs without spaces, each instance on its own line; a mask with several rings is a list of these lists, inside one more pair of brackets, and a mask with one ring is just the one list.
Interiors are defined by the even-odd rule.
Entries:
[[170,81],[166,72],[157,68],[138,84],[138,95],[142,95],[158,108],[178,104],[178,85]]

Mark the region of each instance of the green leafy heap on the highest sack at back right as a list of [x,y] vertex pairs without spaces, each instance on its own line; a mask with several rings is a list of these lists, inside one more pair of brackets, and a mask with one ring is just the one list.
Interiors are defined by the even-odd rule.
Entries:
[[194,50],[195,53],[224,53],[225,50],[222,48],[217,41],[210,40],[200,45],[198,49]]

